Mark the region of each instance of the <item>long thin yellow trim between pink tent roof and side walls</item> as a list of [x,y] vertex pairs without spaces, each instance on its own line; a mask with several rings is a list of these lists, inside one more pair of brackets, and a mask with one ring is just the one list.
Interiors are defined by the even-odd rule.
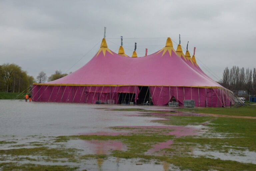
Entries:
[[121,86],[150,86],[150,87],[196,87],[196,88],[220,88],[225,89],[218,86],[170,86],[170,85],[132,85],[132,84],[46,84],[46,83],[33,83],[33,85],[46,85],[46,86],[112,86],[112,87],[121,87]]

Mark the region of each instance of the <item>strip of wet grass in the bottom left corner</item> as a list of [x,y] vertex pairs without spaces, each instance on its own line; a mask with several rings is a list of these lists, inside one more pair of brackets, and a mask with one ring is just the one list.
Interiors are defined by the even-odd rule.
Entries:
[[0,163],[1,171],[73,171],[78,167],[58,166],[58,165],[35,165],[35,164],[17,164]]

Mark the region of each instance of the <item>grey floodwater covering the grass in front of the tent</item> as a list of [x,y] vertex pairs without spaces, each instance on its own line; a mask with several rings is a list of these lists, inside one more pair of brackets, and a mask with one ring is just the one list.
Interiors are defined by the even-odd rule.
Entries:
[[[135,133],[136,129],[167,129],[167,135],[176,137],[201,135],[205,132],[204,125],[198,126],[172,126],[163,125],[152,120],[163,119],[167,115],[198,115],[191,113],[164,114],[151,113],[150,117],[145,117],[146,113],[138,111],[113,111],[109,109],[117,108],[141,108],[147,110],[161,110],[173,112],[175,109],[166,106],[127,106],[127,105],[96,105],[96,104],[76,104],[76,103],[46,103],[46,102],[24,102],[0,100],[0,141],[16,141],[15,144],[0,144],[0,149],[11,148],[34,148],[30,143],[53,142],[53,139],[62,135],[125,135]],[[205,116],[205,115],[202,115]],[[115,130],[110,127],[132,128]],[[145,154],[159,155],[157,153],[163,148],[168,148],[173,140],[155,144],[152,149]],[[24,145],[19,147],[18,145]],[[82,155],[87,154],[111,154],[112,150],[127,150],[127,146],[119,141],[85,141],[69,140],[59,143],[65,148],[76,148]],[[14,145],[14,146],[13,146]],[[16,146],[15,146],[16,145]],[[58,148],[58,145],[48,144],[50,148]],[[249,154],[249,153],[248,153]],[[161,155],[161,154],[160,154]],[[256,163],[249,159],[255,157],[254,154],[244,154],[244,158],[219,154],[217,152],[201,152],[195,149],[194,156],[209,155],[211,158],[221,158],[223,160],[235,160],[240,162]],[[30,156],[31,157],[31,156]],[[33,157],[33,156],[32,156]],[[31,158],[32,158],[31,157]],[[0,161],[3,162],[3,161]],[[20,161],[20,163],[34,163],[47,165],[72,165],[79,166],[80,170],[119,170],[119,171],[177,171],[179,168],[169,163],[158,163],[151,161],[136,165],[140,159],[120,159],[109,157],[103,159],[90,159],[83,163],[72,162],[45,162],[45,161]]]

